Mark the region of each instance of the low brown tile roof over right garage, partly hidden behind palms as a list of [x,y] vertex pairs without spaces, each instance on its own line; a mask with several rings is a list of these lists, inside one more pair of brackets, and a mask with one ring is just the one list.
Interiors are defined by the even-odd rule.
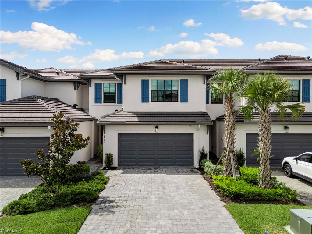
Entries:
[[[287,113],[285,121],[280,119],[277,113],[272,113],[271,116],[272,116],[272,122],[273,123],[303,123],[303,124],[307,123],[307,122],[312,123],[312,112],[304,112],[300,119],[295,119],[295,120],[293,120],[291,118],[291,113]],[[219,121],[224,121],[224,115],[221,115],[221,116],[217,117],[216,119]],[[244,119],[244,117],[242,115],[240,115],[238,113],[238,111],[235,111],[235,121],[237,124],[239,124],[239,123],[257,123],[258,120],[259,120],[259,114],[258,113],[254,114],[254,120],[253,121],[248,121],[248,120]]]

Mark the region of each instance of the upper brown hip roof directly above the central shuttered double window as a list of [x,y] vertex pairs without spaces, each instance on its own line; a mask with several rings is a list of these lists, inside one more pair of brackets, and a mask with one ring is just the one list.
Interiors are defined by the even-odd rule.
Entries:
[[216,69],[168,60],[154,60],[114,69],[115,74],[209,74]]

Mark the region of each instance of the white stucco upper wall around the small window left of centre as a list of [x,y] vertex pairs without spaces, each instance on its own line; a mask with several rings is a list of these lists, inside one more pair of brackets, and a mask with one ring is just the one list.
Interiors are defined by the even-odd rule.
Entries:
[[[94,83],[117,84],[121,82],[116,79],[92,79],[91,80],[91,87],[89,88],[89,115],[95,117],[96,119],[99,119],[102,115],[112,113],[115,110],[122,110],[123,104],[117,104],[117,85],[116,85],[116,103],[94,103],[94,86],[95,86]],[[102,102],[103,102],[103,95],[104,95],[103,91],[104,90],[103,90],[103,85],[102,85]]]

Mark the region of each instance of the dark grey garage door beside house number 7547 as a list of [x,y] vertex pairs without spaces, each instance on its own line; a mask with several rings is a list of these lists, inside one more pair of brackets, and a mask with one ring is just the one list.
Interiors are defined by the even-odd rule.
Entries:
[[191,133],[119,133],[118,164],[193,165]]

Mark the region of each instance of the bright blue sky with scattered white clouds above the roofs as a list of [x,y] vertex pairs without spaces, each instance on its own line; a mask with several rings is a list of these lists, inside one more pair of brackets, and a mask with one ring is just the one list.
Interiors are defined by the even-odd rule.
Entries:
[[311,56],[311,1],[1,1],[1,57],[104,69],[172,58]]

